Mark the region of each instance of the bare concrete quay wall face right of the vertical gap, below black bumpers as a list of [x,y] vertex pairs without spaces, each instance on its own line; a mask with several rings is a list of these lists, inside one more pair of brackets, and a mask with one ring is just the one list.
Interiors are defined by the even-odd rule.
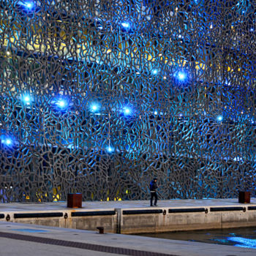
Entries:
[[[174,212],[162,209],[160,214],[123,214],[121,217],[121,233],[162,233],[181,230],[203,230],[228,227],[256,226],[256,209],[247,211],[206,211]],[[225,210],[225,209],[224,209]],[[166,214],[165,214],[166,212]]]

